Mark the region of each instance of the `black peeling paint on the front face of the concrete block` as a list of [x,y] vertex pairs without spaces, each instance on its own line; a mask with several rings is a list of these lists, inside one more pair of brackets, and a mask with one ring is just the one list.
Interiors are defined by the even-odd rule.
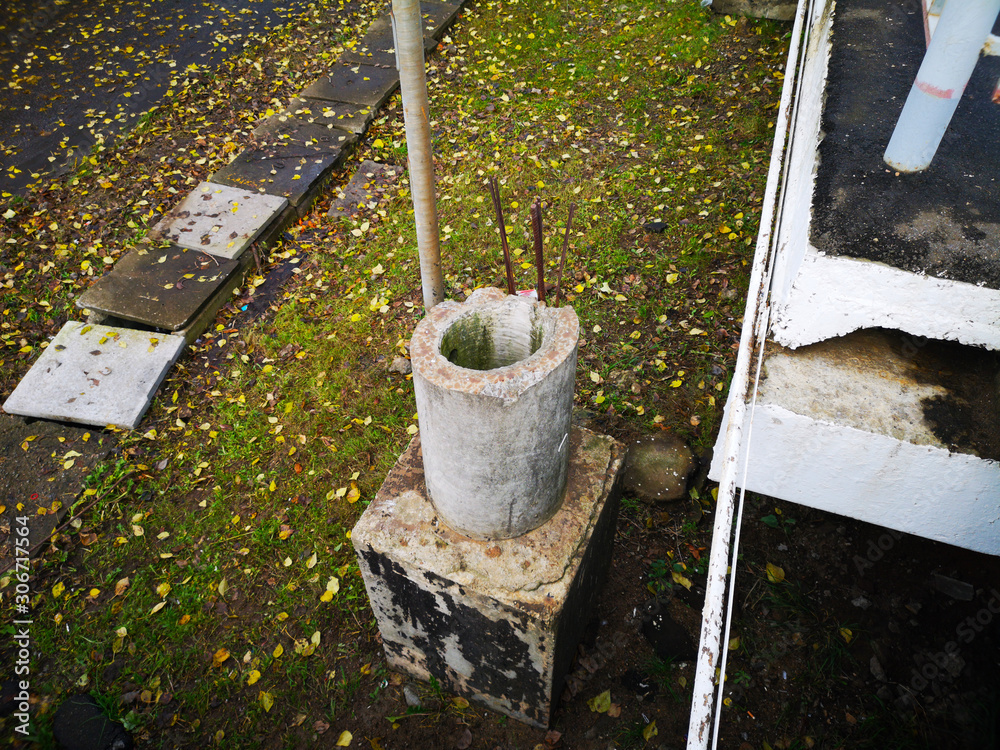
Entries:
[[[539,725],[548,724],[549,691],[541,675],[534,676],[529,645],[524,640],[528,617],[504,608],[511,620],[491,620],[449,593],[451,581],[433,573],[420,572],[429,588],[423,588],[395,561],[375,550],[359,554],[372,574],[385,586],[397,613],[395,625],[409,626],[411,642],[393,642],[383,634],[385,648],[401,661],[413,662],[413,652],[423,657],[423,666],[443,685],[461,692],[481,693],[509,704],[517,713]],[[433,589],[433,591],[431,590]],[[443,601],[448,608],[439,606]],[[408,629],[409,629],[408,628]],[[449,644],[460,644],[462,658],[472,665],[472,673],[461,677],[449,667],[445,654]],[[452,646],[453,647],[453,646]]]

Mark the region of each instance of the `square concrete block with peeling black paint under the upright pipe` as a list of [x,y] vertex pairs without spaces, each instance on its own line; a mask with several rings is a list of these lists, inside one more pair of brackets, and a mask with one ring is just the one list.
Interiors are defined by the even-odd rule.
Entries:
[[607,575],[621,492],[620,443],[575,427],[569,442],[561,508],[519,537],[440,521],[419,436],[351,535],[390,666],[542,728]]

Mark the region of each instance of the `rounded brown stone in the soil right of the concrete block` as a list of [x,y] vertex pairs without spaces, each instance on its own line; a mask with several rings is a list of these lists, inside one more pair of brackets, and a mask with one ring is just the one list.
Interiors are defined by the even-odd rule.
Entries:
[[697,467],[691,449],[676,435],[664,433],[637,440],[625,460],[625,491],[640,500],[680,500]]

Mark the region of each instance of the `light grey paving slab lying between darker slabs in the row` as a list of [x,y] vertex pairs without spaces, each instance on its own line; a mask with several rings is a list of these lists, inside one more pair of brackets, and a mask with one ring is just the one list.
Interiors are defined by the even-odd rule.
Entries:
[[150,238],[236,258],[287,203],[273,195],[202,182],[153,227]]

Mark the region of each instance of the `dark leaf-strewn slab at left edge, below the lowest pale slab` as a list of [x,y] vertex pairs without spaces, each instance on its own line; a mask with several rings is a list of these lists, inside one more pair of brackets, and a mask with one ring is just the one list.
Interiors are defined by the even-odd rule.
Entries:
[[101,430],[0,414],[0,570],[13,556],[11,532],[27,527],[29,547],[44,543],[116,443]]

